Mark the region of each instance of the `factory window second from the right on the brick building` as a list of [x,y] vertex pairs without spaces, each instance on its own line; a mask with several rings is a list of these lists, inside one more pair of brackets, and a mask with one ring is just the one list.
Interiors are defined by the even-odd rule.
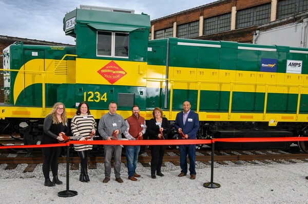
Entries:
[[236,28],[265,24],[271,21],[271,4],[239,10],[236,13]]

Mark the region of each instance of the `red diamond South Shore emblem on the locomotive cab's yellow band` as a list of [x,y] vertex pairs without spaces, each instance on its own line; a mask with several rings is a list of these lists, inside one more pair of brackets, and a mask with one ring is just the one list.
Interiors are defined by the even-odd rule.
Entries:
[[113,61],[102,67],[98,73],[109,81],[110,84],[114,84],[120,78],[125,76],[125,74],[127,74],[119,65],[117,65],[117,63]]

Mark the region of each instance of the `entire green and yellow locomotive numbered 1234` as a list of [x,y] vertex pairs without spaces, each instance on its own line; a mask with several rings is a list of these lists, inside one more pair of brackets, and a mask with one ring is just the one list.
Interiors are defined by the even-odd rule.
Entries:
[[[115,101],[124,118],[138,104],[147,120],[160,107],[173,121],[189,100],[199,113],[200,138],[308,134],[308,49],[148,40],[148,15],[97,7],[67,13],[63,29],[75,37],[75,47],[16,43],[4,50],[2,129],[27,129],[30,144],[57,101],[65,104],[69,118],[81,101],[96,119]],[[306,142],[299,146],[308,151]]]

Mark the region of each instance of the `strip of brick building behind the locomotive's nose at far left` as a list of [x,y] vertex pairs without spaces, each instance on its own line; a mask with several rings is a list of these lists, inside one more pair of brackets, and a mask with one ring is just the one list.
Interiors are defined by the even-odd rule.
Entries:
[[[71,46],[69,44],[54,43],[44,40],[27,39],[20,37],[10,37],[0,35],[0,54],[3,54],[3,49],[15,42],[24,42],[26,45],[56,45],[56,46]],[[0,57],[0,69],[3,69],[3,57]],[[0,88],[4,87],[3,74],[0,74]],[[0,90],[0,103],[4,102],[4,91]]]

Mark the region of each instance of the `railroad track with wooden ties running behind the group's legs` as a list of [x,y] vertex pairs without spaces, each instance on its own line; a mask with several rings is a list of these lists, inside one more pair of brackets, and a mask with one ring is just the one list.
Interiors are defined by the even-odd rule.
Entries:
[[[20,145],[20,140],[11,138],[0,138],[0,143]],[[43,163],[42,152],[28,153],[18,149],[14,152],[11,150],[0,150],[0,164],[7,164],[6,169],[14,169],[18,164],[28,164],[24,172],[31,172],[36,165]],[[79,168],[80,158],[76,156],[74,151],[70,153],[70,168],[72,170]],[[102,155],[102,152],[97,154]],[[180,165],[180,152],[178,149],[167,149],[164,155],[164,162],[171,162],[172,164]],[[59,163],[66,163],[66,156],[59,157]],[[277,164],[283,162],[296,163],[298,161],[308,162],[308,154],[300,153],[299,151],[286,152],[281,150],[254,150],[254,151],[214,151],[214,161],[220,165],[237,164],[242,165],[246,162],[249,164],[258,165],[263,164]],[[138,161],[144,166],[149,167],[151,156],[150,150],[146,150],[139,156]],[[201,148],[197,150],[196,161],[202,162],[205,165],[211,165],[211,151],[210,148]],[[259,163],[257,161],[260,161]],[[90,169],[95,169],[97,163],[103,163],[103,156],[92,155],[89,157],[88,163]],[[122,162],[126,165],[126,157],[122,156]],[[164,164],[163,164],[164,165]]]

